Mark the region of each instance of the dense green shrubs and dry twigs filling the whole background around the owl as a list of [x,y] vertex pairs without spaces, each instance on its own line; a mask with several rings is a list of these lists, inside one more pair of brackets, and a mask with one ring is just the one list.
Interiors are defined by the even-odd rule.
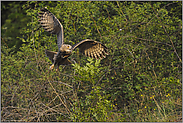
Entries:
[[[182,2],[1,2],[1,121],[167,122],[182,116]],[[102,60],[76,50],[49,71],[56,35],[38,23],[56,15],[64,40],[94,39]]]

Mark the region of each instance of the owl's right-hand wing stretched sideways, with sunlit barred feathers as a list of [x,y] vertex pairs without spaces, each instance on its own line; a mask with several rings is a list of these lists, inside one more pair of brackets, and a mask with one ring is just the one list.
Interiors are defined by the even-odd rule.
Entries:
[[107,53],[107,47],[98,42],[91,39],[85,39],[74,46],[72,46],[72,50],[79,48],[80,53],[84,54],[85,56],[102,59],[105,58]]

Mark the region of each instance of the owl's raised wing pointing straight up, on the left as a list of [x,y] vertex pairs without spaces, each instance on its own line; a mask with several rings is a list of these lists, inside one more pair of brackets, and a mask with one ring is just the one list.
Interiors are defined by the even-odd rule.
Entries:
[[57,34],[57,44],[58,49],[60,49],[64,41],[64,32],[62,24],[46,7],[40,9],[40,11],[41,12],[38,13],[38,18],[40,18],[38,21],[43,26],[45,31],[50,32],[52,34]]

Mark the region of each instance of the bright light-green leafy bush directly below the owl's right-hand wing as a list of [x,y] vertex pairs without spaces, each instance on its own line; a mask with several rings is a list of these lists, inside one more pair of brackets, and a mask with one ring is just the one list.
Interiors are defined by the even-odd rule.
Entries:
[[108,100],[109,95],[99,85],[103,71],[99,67],[100,60],[90,58],[89,63],[81,67],[73,64],[77,84],[76,100],[73,103],[72,119],[75,122],[108,121],[112,114],[113,103]]

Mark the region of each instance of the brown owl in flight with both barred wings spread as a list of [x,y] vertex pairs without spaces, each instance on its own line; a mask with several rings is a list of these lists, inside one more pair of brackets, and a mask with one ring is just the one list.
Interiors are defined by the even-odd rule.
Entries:
[[64,44],[64,31],[60,21],[46,7],[40,9],[38,15],[38,21],[44,30],[57,35],[58,52],[45,50],[46,56],[49,57],[53,63],[50,66],[50,70],[55,67],[58,71],[60,65],[72,64],[68,57],[76,48],[79,48],[79,52],[85,56],[96,59],[102,59],[106,57],[105,55],[108,55],[107,47],[104,44],[91,39],[82,40],[73,46]]

